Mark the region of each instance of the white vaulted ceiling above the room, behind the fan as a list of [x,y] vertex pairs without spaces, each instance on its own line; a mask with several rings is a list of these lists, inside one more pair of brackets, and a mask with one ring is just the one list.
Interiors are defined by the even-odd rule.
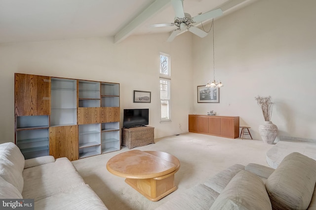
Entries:
[[[221,8],[224,15],[254,0],[184,0],[186,13]],[[173,27],[149,28],[172,23],[171,0],[0,0],[0,43],[113,36],[114,42],[129,35],[170,32]]]

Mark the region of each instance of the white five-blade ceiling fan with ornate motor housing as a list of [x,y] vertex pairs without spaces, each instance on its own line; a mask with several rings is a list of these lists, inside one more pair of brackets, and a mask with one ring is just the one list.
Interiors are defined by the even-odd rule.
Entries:
[[175,12],[174,23],[162,23],[162,24],[153,24],[151,27],[173,27],[177,28],[173,30],[167,42],[171,42],[180,32],[190,31],[197,36],[203,38],[207,35],[207,32],[200,30],[196,26],[192,25],[197,22],[202,22],[208,19],[216,18],[223,14],[222,9],[211,10],[202,14],[199,14],[195,17],[191,17],[189,13],[185,13],[183,9],[183,0],[171,0],[173,10]]

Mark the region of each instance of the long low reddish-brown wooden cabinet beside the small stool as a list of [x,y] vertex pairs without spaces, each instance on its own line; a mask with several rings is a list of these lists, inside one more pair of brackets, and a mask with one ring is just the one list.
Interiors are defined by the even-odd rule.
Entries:
[[189,132],[236,139],[239,137],[239,117],[189,115]]

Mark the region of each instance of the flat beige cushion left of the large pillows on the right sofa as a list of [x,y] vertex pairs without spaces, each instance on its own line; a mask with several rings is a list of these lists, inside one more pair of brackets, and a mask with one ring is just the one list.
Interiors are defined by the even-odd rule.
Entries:
[[233,179],[233,177],[235,177],[235,175],[244,168],[245,167],[240,164],[230,166],[206,180],[204,185],[210,187],[215,192],[221,193],[226,185]]

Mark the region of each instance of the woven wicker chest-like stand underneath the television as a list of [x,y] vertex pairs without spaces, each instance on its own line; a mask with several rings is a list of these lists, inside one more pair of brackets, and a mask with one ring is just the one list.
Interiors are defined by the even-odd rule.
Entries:
[[130,150],[134,147],[155,144],[154,129],[150,126],[122,128],[122,146]]

